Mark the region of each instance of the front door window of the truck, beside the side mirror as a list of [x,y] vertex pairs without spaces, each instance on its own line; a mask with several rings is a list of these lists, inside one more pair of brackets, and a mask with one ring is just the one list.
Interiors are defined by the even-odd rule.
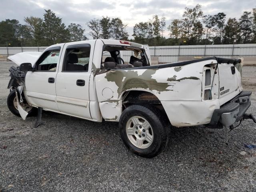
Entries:
[[55,72],[60,54],[60,47],[47,50],[36,62],[37,71]]

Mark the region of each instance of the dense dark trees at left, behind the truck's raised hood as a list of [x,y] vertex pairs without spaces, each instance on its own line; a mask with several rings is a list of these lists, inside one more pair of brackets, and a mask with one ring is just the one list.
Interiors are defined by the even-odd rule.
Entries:
[[71,23],[68,27],[62,18],[51,10],[45,10],[44,18],[25,17],[25,25],[16,19],[0,22],[0,46],[49,46],[51,44],[86,40],[81,25]]

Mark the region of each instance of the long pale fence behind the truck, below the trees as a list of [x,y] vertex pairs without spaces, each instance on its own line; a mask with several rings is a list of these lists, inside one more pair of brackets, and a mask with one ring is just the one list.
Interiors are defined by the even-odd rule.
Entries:
[[[26,52],[42,52],[47,47],[0,47],[0,60],[6,60],[10,55]],[[123,59],[130,60],[131,51],[123,51]],[[187,46],[150,46],[150,55],[154,62],[169,63],[210,56],[244,57],[245,63],[256,64],[256,44],[231,45],[187,45]]]

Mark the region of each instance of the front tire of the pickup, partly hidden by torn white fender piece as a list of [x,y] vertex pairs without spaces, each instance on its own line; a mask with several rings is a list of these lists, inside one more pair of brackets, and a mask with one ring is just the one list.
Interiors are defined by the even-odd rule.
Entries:
[[[16,100],[16,93],[15,93],[15,89],[12,90],[7,98],[7,106],[10,110],[10,112],[12,112],[12,114],[19,116],[20,117],[20,113],[18,111],[18,109],[14,106],[14,101]],[[37,113],[37,109],[34,107],[29,106],[28,104],[25,104],[24,106],[27,107],[27,112],[28,112],[28,116],[34,116]]]

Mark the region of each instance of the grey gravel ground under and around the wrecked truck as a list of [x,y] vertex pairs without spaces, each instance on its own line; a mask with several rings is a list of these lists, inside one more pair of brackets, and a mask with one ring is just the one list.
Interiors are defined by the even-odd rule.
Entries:
[[[196,126],[172,128],[168,149],[146,159],[131,154],[118,125],[43,112],[33,128],[6,106],[11,62],[0,62],[0,192],[4,191],[256,191],[256,124],[246,120],[228,134]],[[256,66],[244,66],[253,90]],[[242,154],[240,154],[243,152]]]

